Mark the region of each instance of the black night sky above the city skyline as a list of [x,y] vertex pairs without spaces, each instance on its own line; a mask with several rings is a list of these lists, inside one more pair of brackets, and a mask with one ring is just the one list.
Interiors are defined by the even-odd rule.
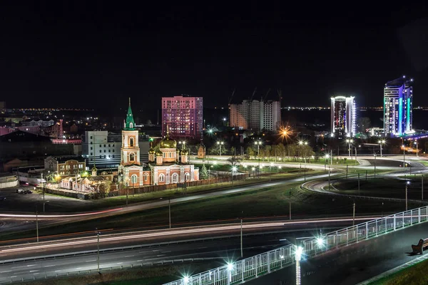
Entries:
[[257,87],[255,98],[281,88],[282,105],[382,105],[384,83],[407,74],[428,105],[427,29],[412,24],[424,6],[124,2],[2,1],[0,100],[117,109],[131,96],[150,113],[162,96],[227,105],[233,88],[238,101]]

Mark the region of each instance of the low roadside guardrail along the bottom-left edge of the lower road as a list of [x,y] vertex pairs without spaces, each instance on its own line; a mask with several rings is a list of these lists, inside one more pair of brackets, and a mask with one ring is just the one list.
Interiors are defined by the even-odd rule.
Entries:
[[[162,260],[162,261],[154,261],[154,262],[146,262],[146,263],[136,263],[136,264],[123,264],[121,266],[108,266],[108,267],[100,267],[101,274],[107,274],[113,271],[118,270],[129,270],[129,269],[137,269],[141,267],[150,267],[150,266],[159,266],[159,265],[167,265],[167,264],[183,264],[194,261],[207,261],[207,260],[217,260],[223,259],[223,257],[204,257],[204,258],[194,258],[194,259],[170,259],[170,260]],[[29,274],[26,276],[12,276],[11,278],[0,279],[0,284],[11,284],[16,282],[23,281],[35,281],[41,279],[51,279],[51,278],[61,278],[61,277],[72,277],[72,276],[84,276],[88,274],[98,274],[97,266],[91,266],[92,269],[86,270],[75,270],[75,271],[46,271],[43,273],[35,273]]]

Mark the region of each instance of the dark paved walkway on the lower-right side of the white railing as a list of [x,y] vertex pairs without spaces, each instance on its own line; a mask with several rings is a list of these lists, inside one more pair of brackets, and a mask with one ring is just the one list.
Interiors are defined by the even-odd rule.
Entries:
[[[302,285],[358,284],[417,258],[410,254],[411,245],[424,238],[428,238],[428,222],[302,261]],[[294,265],[246,282],[248,285],[294,283]]]

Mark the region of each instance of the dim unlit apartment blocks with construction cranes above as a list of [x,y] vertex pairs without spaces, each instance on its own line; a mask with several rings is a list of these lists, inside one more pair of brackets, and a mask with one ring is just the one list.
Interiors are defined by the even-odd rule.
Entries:
[[243,100],[240,104],[230,104],[230,127],[241,130],[276,131],[281,125],[280,101]]

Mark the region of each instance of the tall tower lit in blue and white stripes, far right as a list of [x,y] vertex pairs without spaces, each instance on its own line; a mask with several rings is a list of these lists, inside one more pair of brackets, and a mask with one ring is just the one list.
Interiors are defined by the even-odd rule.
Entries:
[[405,76],[385,83],[384,132],[392,135],[412,133],[413,79]]

